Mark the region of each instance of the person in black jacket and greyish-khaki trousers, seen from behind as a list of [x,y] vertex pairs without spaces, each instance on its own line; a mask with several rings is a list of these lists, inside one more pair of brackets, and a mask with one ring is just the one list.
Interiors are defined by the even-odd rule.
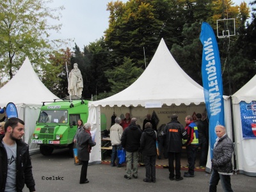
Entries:
[[[121,145],[126,151],[126,174],[124,175],[125,179],[131,179],[134,177],[138,178],[138,153],[140,148],[140,137],[141,129],[138,128],[137,119],[132,118],[131,124],[125,128],[122,138]],[[131,172],[133,166],[133,174]]]

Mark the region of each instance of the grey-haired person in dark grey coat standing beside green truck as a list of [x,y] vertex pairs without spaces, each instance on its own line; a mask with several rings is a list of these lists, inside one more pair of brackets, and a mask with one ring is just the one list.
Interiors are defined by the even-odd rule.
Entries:
[[77,136],[77,157],[79,161],[82,163],[81,175],[80,175],[80,184],[88,183],[87,179],[87,168],[90,160],[90,152],[92,147],[96,145],[96,143],[92,140],[91,135],[91,124],[84,124],[83,130],[79,132]]

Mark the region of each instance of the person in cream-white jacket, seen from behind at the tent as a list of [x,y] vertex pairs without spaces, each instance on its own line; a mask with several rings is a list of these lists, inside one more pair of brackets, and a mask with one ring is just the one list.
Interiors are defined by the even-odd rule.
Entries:
[[[119,159],[117,156],[117,150],[120,150],[122,148],[121,145],[121,138],[123,134],[123,127],[120,125],[121,124],[121,118],[116,117],[115,118],[115,124],[112,125],[110,128],[110,140],[111,140],[111,145],[112,145],[112,155],[111,155],[111,166],[116,166],[121,167],[121,164],[119,164]],[[115,163],[115,161],[117,163]]]

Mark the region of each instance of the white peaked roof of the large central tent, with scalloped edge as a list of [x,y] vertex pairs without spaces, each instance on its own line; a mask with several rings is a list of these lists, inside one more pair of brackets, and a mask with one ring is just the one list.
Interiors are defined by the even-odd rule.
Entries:
[[204,89],[180,68],[163,38],[148,67],[131,86],[89,105],[136,107],[145,106],[146,102],[161,102],[167,106],[204,103]]

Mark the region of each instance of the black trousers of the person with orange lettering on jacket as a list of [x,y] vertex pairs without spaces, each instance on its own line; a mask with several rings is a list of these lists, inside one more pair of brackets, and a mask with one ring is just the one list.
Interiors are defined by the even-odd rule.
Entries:
[[169,172],[170,172],[170,178],[175,177],[174,175],[174,166],[173,161],[175,158],[175,173],[176,173],[176,179],[180,178],[180,153],[175,152],[168,152],[168,162],[169,162]]

